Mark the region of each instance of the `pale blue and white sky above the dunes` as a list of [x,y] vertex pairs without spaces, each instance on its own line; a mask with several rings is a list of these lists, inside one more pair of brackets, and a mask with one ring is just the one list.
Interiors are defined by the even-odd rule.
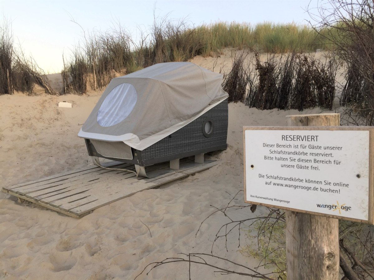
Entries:
[[[156,16],[170,19],[187,18],[191,25],[216,21],[307,24],[308,4],[318,0],[0,0],[3,18],[12,22],[13,37],[27,55],[32,54],[40,68],[55,73],[62,69],[62,53],[70,55],[74,45],[86,32],[105,31],[120,21],[136,34],[137,27],[149,28]],[[0,19],[2,24],[3,20]],[[135,35],[134,35],[135,36]]]

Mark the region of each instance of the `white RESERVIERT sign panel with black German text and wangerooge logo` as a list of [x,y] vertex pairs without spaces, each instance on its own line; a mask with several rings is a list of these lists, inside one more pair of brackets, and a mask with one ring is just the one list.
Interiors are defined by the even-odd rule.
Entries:
[[368,220],[369,131],[248,128],[245,176],[248,203]]

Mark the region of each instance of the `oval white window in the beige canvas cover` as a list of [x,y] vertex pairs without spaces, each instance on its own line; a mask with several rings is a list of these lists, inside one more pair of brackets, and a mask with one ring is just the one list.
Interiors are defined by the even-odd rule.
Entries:
[[132,84],[119,84],[105,97],[97,113],[97,122],[102,127],[119,124],[130,115],[137,103],[137,90]]

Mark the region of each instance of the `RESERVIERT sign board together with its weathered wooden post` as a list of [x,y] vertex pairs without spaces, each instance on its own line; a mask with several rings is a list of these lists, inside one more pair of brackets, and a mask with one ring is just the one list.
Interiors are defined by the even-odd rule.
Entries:
[[245,201],[287,210],[290,280],[338,279],[337,218],[374,223],[374,130],[338,127],[339,118],[294,115],[288,127],[244,128]]

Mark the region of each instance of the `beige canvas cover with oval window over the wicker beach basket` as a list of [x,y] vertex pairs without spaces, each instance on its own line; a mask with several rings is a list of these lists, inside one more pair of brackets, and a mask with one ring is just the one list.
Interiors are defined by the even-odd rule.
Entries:
[[78,136],[144,150],[225,100],[222,78],[191,62],[159,63],[114,78]]

